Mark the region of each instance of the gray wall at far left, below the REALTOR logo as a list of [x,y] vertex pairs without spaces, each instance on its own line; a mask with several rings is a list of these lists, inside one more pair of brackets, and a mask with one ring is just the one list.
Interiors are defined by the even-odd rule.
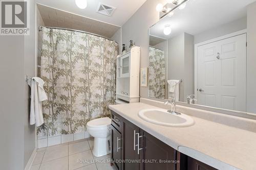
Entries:
[[24,36],[0,36],[0,165],[24,167]]

